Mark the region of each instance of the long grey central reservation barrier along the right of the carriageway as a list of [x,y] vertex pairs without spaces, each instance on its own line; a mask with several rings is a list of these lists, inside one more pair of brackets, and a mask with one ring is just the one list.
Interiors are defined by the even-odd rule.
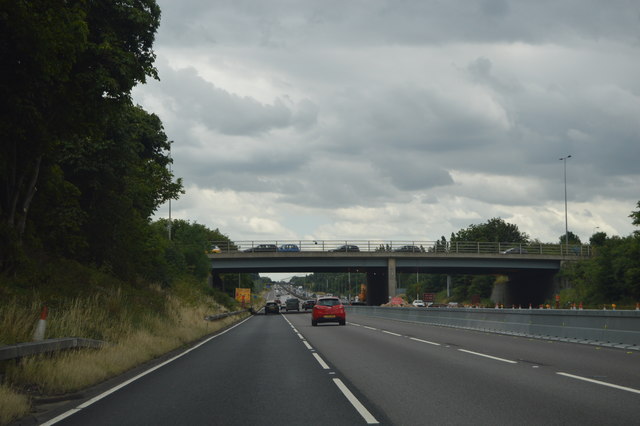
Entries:
[[371,317],[640,350],[640,311],[346,306]]

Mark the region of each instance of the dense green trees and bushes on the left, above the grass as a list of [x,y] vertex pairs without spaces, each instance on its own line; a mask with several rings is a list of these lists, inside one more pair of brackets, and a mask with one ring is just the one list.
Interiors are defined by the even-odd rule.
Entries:
[[[205,249],[228,237],[151,222],[182,192],[160,119],[130,98],[157,78],[159,19],[155,0],[1,0],[1,271],[58,259],[134,285],[206,285]],[[252,278],[222,276],[222,300]]]

